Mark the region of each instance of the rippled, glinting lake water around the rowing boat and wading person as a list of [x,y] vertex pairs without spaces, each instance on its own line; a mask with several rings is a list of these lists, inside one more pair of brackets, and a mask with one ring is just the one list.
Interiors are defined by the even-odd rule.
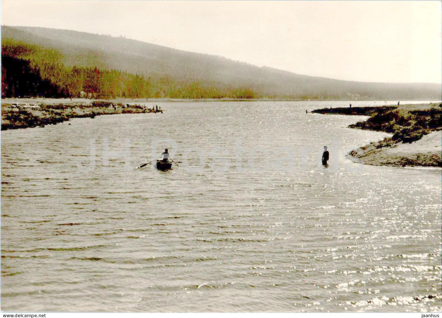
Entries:
[[441,170],[348,159],[347,102],[155,104],[2,131],[2,310],[442,310]]

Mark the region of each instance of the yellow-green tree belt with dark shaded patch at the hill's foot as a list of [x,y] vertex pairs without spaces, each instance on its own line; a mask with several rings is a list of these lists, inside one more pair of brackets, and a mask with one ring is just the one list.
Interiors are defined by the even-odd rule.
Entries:
[[118,69],[67,65],[63,54],[11,38],[2,39],[2,96],[92,98],[260,98],[244,85],[177,80]]

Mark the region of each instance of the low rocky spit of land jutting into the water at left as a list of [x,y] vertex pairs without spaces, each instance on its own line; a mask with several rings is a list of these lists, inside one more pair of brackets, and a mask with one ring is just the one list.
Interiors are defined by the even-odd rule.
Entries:
[[161,108],[109,102],[92,102],[91,105],[17,105],[2,104],[1,130],[44,127],[68,121],[71,118],[110,114],[163,113]]

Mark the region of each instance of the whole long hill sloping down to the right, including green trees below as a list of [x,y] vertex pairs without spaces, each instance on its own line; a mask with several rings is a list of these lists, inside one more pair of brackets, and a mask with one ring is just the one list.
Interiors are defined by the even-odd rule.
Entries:
[[[441,96],[440,84],[310,77],[122,37],[7,26],[1,27],[1,37],[3,96],[86,93],[97,98],[377,100],[439,100]],[[19,87],[17,78],[24,81]]]

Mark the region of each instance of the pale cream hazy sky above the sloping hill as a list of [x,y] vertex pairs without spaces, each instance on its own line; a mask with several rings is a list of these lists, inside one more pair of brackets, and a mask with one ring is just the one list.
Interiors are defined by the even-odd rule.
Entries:
[[344,80],[441,83],[440,1],[1,2],[1,24],[85,31]]

